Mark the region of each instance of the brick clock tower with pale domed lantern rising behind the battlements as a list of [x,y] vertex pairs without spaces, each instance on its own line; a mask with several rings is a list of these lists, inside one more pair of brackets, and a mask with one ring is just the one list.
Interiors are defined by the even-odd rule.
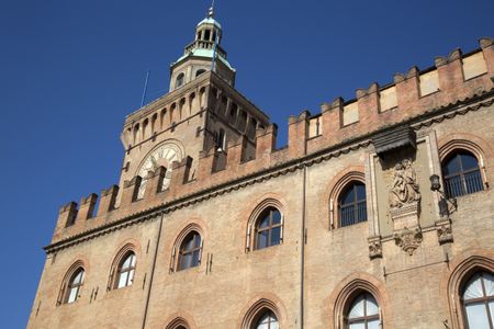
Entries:
[[222,25],[210,9],[195,27],[194,41],[170,65],[169,93],[126,116],[120,186],[139,180],[136,198],[144,196],[148,172],[165,167],[160,189],[166,190],[172,163],[187,157],[192,161],[190,181],[195,179],[201,155],[216,152],[213,170],[222,170],[228,145],[240,139],[244,160],[254,158],[256,129],[267,127],[269,117],[234,88],[236,71],[226,59],[222,39]]

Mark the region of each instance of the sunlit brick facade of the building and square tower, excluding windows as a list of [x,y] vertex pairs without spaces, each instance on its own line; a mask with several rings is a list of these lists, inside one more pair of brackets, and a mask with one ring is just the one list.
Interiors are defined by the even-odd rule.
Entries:
[[[378,302],[382,328],[465,328],[464,281],[494,272],[494,44],[480,45],[358,90],[356,100],[323,104],[317,115],[292,116],[282,149],[276,124],[211,71],[131,114],[119,185],[102,191],[97,209],[96,194],[60,208],[27,328],[250,328],[266,309],[280,328],[345,328],[361,292]],[[463,59],[475,54],[485,69],[465,80],[478,66]],[[435,70],[438,90],[420,94],[420,76]],[[390,88],[395,99],[384,102]],[[375,136],[400,126],[416,135],[416,148],[379,155]],[[220,129],[226,149],[215,144]],[[183,151],[179,161],[136,178],[170,141]],[[483,185],[445,217],[429,177],[441,175],[441,161],[458,149],[476,157]],[[422,195],[413,235],[396,229],[388,200],[404,158]],[[367,220],[340,227],[338,197],[352,181],[366,185]],[[281,242],[255,250],[257,214],[267,206],[282,215]],[[199,265],[178,271],[180,241],[192,230],[202,239]],[[112,269],[125,248],[136,256],[135,276],[115,290]],[[64,303],[75,266],[83,284],[75,303]]]

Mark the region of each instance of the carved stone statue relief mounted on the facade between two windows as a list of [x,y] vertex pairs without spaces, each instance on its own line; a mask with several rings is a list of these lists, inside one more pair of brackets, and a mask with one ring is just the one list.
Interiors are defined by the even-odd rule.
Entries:
[[412,168],[412,160],[404,159],[394,168],[390,206],[396,208],[418,201],[420,201],[420,192],[418,191],[417,175]]

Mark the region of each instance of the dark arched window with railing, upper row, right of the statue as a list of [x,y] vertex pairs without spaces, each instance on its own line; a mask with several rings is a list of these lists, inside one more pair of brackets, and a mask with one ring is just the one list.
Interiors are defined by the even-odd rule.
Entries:
[[445,190],[448,197],[475,193],[484,189],[479,161],[467,150],[458,150],[442,162]]

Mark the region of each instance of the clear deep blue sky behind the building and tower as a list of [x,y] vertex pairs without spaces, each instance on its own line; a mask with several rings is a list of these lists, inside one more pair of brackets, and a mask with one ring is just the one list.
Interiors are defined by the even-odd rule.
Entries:
[[[0,318],[24,328],[58,207],[117,182],[124,116],[168,88],[209,1],[0,2]],[[217,0],[237,89],[289,115],[494,36],[494,1]]]

